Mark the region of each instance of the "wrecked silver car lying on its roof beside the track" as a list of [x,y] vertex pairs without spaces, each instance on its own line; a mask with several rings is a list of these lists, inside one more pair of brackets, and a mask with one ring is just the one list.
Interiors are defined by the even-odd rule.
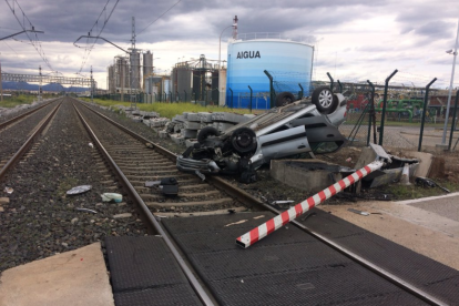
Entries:
[[346,99],[322,86],[312,98],[272,109],[239,123],[223,134],[206,126],[197,143],[177,156],[177,169],[202,173],[241,174],[242,182],[256,180],[255,170],[274,159],[330,153],[346,139],[338,126],[345,121]]

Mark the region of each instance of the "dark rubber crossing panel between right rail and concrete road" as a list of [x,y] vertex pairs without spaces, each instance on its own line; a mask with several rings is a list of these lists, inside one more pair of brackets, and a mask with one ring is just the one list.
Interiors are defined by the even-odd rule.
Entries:
[[[446,304],[459,305],[459,272],[322,210],[303,222]],[[459,257],[458,257],[459,259]]]

